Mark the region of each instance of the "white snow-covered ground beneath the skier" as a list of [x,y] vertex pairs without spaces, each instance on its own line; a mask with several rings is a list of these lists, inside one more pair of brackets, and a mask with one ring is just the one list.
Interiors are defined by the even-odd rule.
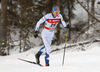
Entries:
[[[50,54],[50,67],[26,63],[18,58],[35,61],[35,53],[40,47],[36,47],[24,53],[0,56],[0,72],[100,72],[100,46],[91,45],[86,51],[67,51],[65,63],[62,66],[63,51]],[[91,47],[90,46],[90,47]],[[45,65],[44,55],[41,56],[41,64]]]

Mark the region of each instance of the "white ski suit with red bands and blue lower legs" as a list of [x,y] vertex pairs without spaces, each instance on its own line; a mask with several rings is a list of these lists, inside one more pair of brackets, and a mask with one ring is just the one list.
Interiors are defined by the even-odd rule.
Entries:
[[54,35],[54,29],[56,28],[58,22],[61,22],[64,28],[66,28],[66,23],[63,20],[63,17],[61,14],[58,16],[54,16],[53,13],[46,14],[43,16],[36,25],[35,31],[38,31],[40,24],[45,22],[44,29],[42,31],[42,39],[44,42],[44,47],[42,47],[39,50],[39,54],[42,54],[45,52],[45,62],[46,64],[49,64],[49,54],[51,51],[50,45],[52,43],[53,35]]

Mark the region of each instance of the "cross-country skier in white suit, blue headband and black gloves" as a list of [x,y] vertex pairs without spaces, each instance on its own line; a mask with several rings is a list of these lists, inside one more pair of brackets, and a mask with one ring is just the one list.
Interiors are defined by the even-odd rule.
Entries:
[[45,52],[46,66],[49,66],[49,54],[50,54],[50,50],[51,50],[50,45],[52,43],[54,30],[55,30],[58,22],[60,21],[65,29],[69,28],[69,24],[66,25],[65,21],[63,20],[62,15],[60,14],[59,6],[54,6],[52,8],[52,10],[53,10],[52,13],[46,14],[37,22],[37,25],[35,28],[35,33],[34,33],[34,37],[37,38],[39,26],[40,26],[40,24],[45,22],[45,26],[44,26],[44,29],[41,34],[43,42],[44,42],[44,46],[38,51],[38,53],[35,55],[35,57],[36,57],[36,62],[39,64],[40,63],[40,60],[39,60],[40,55],[43,52]]

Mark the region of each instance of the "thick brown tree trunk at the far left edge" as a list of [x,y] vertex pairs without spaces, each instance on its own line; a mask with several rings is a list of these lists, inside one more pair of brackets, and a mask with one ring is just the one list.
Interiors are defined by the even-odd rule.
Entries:
[[[7,4],[8,0],[1,0],[1,24],[0,24],[0,48],[2,48],[2,43],[4,43],[3,47],[7,46],[7,25],[8,25],[8,18],[7,18]],[[2,50],[0,50],[2,51]],[[8,53],[9,54],[9,53]]]

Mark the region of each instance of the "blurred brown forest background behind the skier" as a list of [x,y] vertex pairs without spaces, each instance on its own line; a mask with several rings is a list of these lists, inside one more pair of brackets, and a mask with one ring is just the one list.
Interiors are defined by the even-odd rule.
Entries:
[[[55,4],[60,6],[66,24],[70,24],[69,44],[100,42],[99,0],[0,0],[0,55],[9,55],[14,48],[24,52],[43,45],[40,34],[44,24],[40,26],[37,40],[33,37],[35,26],[42,16],[52,12]],[[66,30],[59,23],[53,44],[63,44],[65,39]]]

